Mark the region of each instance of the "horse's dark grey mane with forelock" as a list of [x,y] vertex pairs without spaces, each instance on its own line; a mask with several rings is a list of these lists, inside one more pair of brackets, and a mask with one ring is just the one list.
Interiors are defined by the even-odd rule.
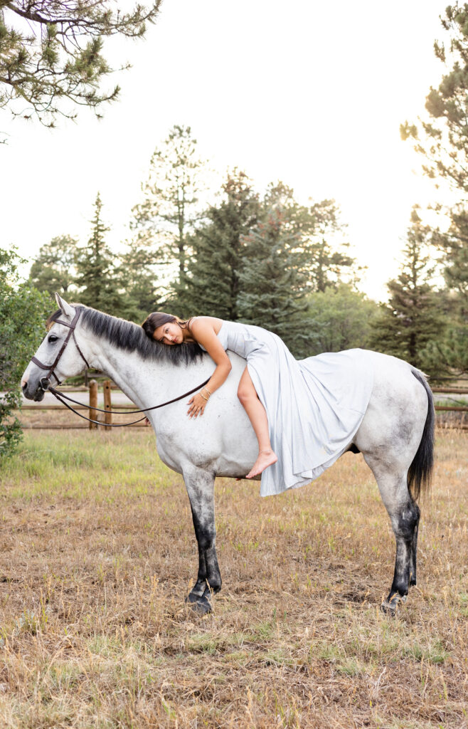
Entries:
[[[71,304],[82,311],[80,323],[92,334],[106,339],[110,344],[127,352],[138,352],[142,359],[151,359],[156,362],[170,362],[170,364],[191,364],[199,359],[203,352],[196,342],[185,342],[178,346],[161,344],[150,339],[143,329],[132,321],[118,319],[97,309],[83,304]],[[63,316],[57,309],[47,319],[47,327]]]

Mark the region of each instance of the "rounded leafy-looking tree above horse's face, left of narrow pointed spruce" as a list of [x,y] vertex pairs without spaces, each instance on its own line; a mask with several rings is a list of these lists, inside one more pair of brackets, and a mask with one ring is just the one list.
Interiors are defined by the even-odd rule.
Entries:
[[33,260],[29,281],[39,291],[53,297],[57,291],[66,294],[74,284],[74,264],[78,241],[71,235],[58,235],[39,249]]

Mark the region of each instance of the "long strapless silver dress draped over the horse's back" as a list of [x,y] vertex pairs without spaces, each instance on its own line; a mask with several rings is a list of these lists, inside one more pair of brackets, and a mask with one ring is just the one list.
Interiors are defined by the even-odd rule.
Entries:
[[223,348],[247,360],[266,410],[277,463],[261,475],[261,496],[314,480],[341,456],[359,428],[373,386],[373,361],[363,349],[297,360],[273,332],[223,321]]

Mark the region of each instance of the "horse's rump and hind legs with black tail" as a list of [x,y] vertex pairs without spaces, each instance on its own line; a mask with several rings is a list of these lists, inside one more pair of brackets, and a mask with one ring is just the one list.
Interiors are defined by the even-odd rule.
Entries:
[[410,585],[416,585],[420,512],[413,494],[427,488],[432,469],[432,395],[416,370],[389,357],[378,356],[378,361],[354,444],[376,477],[397,542],[392,588],[382,604],[394,613]]

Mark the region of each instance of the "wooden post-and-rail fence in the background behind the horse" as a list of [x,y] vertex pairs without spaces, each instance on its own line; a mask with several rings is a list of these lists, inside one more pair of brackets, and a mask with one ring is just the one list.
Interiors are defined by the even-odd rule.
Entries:
[[[60,388],[63,391],[68,392],[88,392],[89,393],[89,404],[88,405],[75,405],[73,403],[73,407],[75,410],[87,410],[86,415],[88,418],[91,418],[92,420],[100,421],[100,424],[95,423],[88,423],[88,424],[81,424],[78,421],[80,418],[77,416],[74,416],[74,421],[70,424],[22,424],[23,429],[90,429],[90,430],[112,430],[112,413],[110,410],[122,410],[122,414],[125,413],[126,410],[135,410],[137,409],[137,406],[133,403],[129,403],[128,405],[112,405],[111,401],[111,391],[112,389],[116,389],[116,387],[111,383],[111,380],[104,380],[102,381],[103,384],[103,396],[104,396],[104,410],[106,410],[105,413],[100,413],[95,408],[98,407],[98,381],[91,380],[88,384],[88,387],[63,387]],[[432,388],[432,392],[435,394],[444,394],[447,396],[456,394],[461,397],[464,395],[468,395],[468,389],[465,388],[459,388],[459,387],[434,387]],[[66,408],[63,405],[23,405],[21,410],[60,410],[60,412],[65,412]],[[468,406],[467,405],[436,405],[435,410],[438,412],[450,412],[450,413],[468,413]],[[129,413],[130,414],[130,413]],[[142,417],[142,416],[141,416]],[[138,418],[137,418],[138,419]],[[117,422],[123,422],[120,418],[117,418]],[[456,421],[453,421],[453,424],[445,423],[443,426],[445,427],[453,427],[456,429],[461,430],[468,430],[468,416],[462,415],[459,419]],[[146,423],[143,421],[138,424],[134,424],[128,427],[132,428],[144,428],[146,427]]]

